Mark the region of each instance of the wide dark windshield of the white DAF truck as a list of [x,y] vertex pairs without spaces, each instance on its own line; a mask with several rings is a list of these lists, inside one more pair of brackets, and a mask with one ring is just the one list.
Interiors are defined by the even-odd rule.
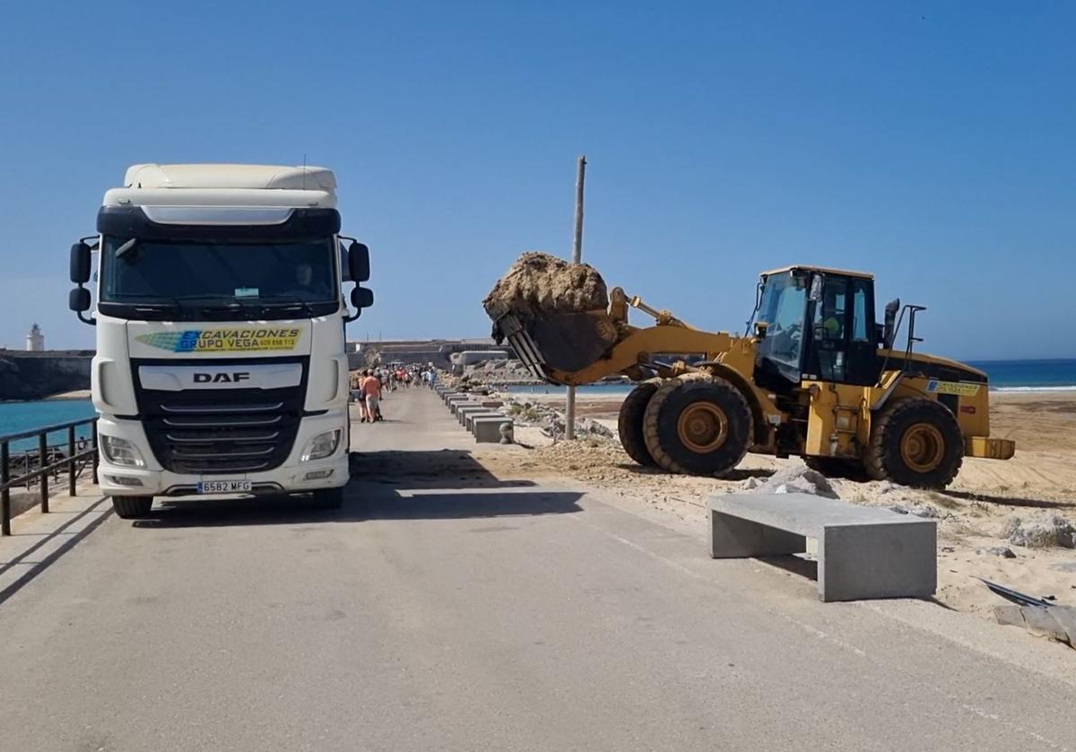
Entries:
[[[326,315],[340,306],[334,242],[105,236],[100,303],[103,313],[140,318]],[[138,310],[119,310],[129,308]]]

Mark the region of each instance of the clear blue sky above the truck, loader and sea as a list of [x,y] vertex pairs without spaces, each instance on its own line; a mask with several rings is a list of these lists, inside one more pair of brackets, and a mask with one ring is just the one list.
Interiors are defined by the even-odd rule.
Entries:
[[[337,171],[377,304],[349,337],[484,336],[524,250],[696,326],[758,272],[874,271],[924,347],[1076,357],[1076,6],[1061,2],[19,3],[0,46],[0,345],[141,161]],[[640,320],[641,321],[641,320]]]

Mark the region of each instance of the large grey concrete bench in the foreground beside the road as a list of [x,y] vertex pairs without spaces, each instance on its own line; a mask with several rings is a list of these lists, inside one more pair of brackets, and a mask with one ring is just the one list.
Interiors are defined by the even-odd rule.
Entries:
[[818,541],[818,594],[830,600],[908,598],[937,588],[937,525],[888,509],[807,494],[710,498],[710,555],[803,553]]

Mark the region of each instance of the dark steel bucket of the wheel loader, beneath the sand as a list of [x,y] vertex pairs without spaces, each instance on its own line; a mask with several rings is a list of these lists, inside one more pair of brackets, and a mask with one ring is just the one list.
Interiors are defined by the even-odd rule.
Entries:
[[515,351],[527,370],[551,384],[565,383],[555,371],[579,371],[595,363],[617,340],[605,311],[544,313],[521,321],[508,313],[494,327]]

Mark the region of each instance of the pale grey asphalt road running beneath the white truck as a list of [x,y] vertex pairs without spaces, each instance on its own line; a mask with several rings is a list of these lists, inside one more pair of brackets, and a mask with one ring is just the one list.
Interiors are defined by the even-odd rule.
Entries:
[[498,481],[429,393],[385,411],[344,509],[113,516],[0,605],[0,749],[1076,748],[1018,656]]

